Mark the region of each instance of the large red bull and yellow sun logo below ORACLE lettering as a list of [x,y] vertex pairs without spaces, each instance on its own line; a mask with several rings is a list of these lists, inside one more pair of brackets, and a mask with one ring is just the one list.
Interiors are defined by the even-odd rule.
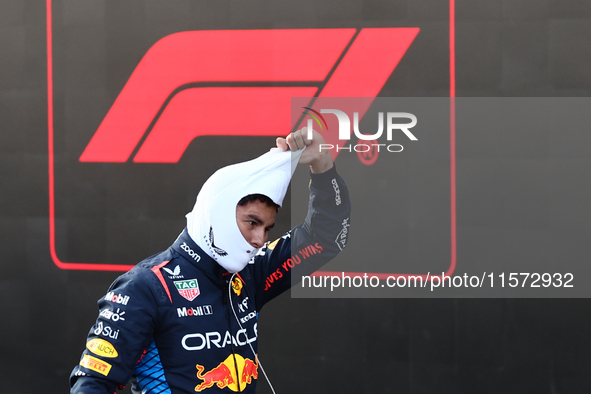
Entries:
[[197,377],[203,380],[195,386],[195,391],[201,392],[217,385],[218,388],[229,388],[232,391],[242,391],[253,379],[258,379],[258,365],[239,354],[230,354],[217,367],[203,373],[205,368],[197,364]]

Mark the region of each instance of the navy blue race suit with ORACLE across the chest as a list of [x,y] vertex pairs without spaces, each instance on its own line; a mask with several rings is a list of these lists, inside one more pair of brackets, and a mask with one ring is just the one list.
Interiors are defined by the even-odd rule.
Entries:
[[[258,313],[345,246],[350,202],[333,168],[311,174],[303,224],[226,272],[187,230],[166,251],[117,278],[98,301],[72,394],[255,393]],[[251,347],[252,346],[252,347]]]

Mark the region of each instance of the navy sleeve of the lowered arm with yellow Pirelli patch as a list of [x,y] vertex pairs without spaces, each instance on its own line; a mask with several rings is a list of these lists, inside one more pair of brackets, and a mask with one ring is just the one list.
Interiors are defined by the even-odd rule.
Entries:
[[71,394],[112,394],[131,378],[155,327],[157,304],[150,274],[134,268],[117,278],[98,301],[99,316],[70,375]]

